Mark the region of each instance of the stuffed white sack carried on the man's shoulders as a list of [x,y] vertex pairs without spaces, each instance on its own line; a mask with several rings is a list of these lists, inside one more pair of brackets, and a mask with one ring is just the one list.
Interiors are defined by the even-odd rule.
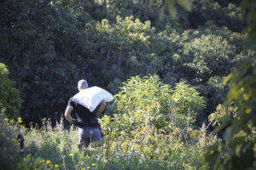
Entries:
[[107,90],[96,86],[85,88],[73,96],[73,101],[80,105],[84,105],[84,107],[88,108],[90,111],[94,111],[102,100],[109,102],[113,100],[113,95]]

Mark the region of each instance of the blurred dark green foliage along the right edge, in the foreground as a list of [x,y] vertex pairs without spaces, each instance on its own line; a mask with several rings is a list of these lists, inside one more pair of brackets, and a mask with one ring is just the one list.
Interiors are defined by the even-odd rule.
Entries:
[[[250,35],[252,34],[251,29],[255,27],[251,20],[252,17],[255,17],[255,14],[251,13],[252,11],[255,12],[255,8],[253,5],[249,5],[248,1],[242,1],[242,5],[244,13],[247,14],[246,31]],[[247,8],[249,8],[249,12]],[[251,36],[251,40],[247,39],[247,43],[249,43],[247,47],[254,47],[255,37]],[[226,77],[225,81],[230,83],[227,102],[236,106],[236,119],[230,118],[230,114],[221,116],[219,126],[213,132],[219,133],[219,131],[224,130],[224,141],[209,147],[207,161],[212,169],[255,169],[255,64],[255,54],[253,53],[253,57],[239,63],[236,70]],[[219,120],[218,115],[216,117],[211,116],[211,118]]]

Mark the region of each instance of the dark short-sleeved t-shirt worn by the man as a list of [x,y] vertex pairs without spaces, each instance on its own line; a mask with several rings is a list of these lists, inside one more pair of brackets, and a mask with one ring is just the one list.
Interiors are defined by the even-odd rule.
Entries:
[[94,112],[90,112],[89,109],[83,105],[79,105],[77,102],[73,101],[72,98],[68,100],[68,104],[73,106],[74,111],[77,114],[79,127],[98,127],[99,123]]

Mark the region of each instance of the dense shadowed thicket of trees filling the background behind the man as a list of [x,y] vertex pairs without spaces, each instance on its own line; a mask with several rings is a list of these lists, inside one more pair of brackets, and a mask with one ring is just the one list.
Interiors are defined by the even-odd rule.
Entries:
[[[160,12],[164,6],[163,1],[3,1],[0,61],[20,89],[20,116],[27,124],[60,118],[81,78],[117,94],[126,79],[150,74],[172,86],[197,87],[207,101],[198,122],[207,122],[227,92],[221,80],[249,55],[244,37],[233,29],[243,26],[241,10],[231,1],[228,6],[194,1],[191,12],[177,6],[173,19]],[[207,18],[189,19],[197,18],[195,11]]]

